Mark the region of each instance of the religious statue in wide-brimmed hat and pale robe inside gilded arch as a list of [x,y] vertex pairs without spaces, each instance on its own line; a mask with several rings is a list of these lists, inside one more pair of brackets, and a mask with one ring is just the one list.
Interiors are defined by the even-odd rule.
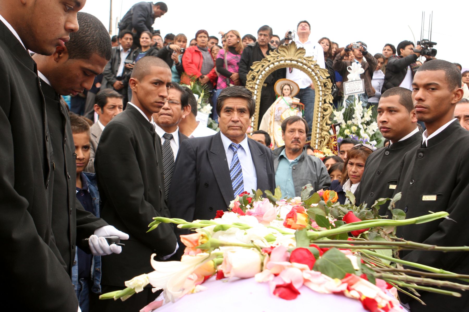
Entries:
[[282,139],[282,122],[290,116],[303,116],[303,104],[294,98],[300,87],[289,79],[280,79],[274,85],[274,90],[279,97],[267,109],[259,130],[267,132],[272,139],[272,150],[285,145]]

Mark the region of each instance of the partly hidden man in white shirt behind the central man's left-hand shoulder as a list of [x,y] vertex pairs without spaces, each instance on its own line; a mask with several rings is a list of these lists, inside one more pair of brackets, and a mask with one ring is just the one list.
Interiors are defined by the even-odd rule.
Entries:
[[188,94],[188,103],[190,105],[190,114],[188,114],[179,123],[179,131],[188,138],[208,137],[217,134],[217,131],[205,126],[196,120],[197,99],[188,87],[182,87]]

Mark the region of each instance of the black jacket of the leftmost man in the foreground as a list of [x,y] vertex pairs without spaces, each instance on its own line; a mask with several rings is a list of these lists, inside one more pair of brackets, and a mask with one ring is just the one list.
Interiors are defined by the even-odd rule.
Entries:
[[0,22],[0,279],[8,281],[0,286],[2,304],[76,312],[51,226],[52,151],[39,85],[29,52]]

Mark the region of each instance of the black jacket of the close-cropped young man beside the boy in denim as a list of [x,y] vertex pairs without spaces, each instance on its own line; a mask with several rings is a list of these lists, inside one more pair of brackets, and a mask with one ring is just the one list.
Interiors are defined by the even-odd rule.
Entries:
[[121,254],[101,258],[104,285],[122,286],[151,272],[152,253],[165,256],[176,249],[172,225],[163,223],[146,232],[153,217],[169,217],[160,145],[154,125],[132,105],[101,134],[94,160],[101,218],[130,237]]

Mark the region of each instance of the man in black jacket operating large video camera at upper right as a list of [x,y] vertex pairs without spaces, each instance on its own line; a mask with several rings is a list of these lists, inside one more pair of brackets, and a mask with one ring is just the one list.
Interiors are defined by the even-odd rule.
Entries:
[[[387,61],[381,94],[392,87],[404,87],[412,90],[414,74],[419,67],[419,65],[416,64],[416,60],[420,56],[420,53],[416,51],[422,51],[424,47],[418,45],[415,49],[414,48],[414,43],[408,40],[404,40],[397,45],[397,55],[391,56]],[[430,55],[424,55],[424,57],[427,58],[427,60],[431,59]]]

